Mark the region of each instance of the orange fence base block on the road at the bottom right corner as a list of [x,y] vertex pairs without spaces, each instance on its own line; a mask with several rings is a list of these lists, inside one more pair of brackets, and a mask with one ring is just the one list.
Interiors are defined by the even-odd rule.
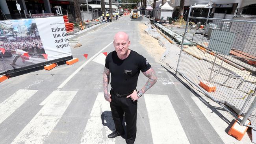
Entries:
[[[239,116],[239,118],[240,118],[240,116]],[[245,122],[245,124],[250,124],[250,121],[247,120]],[[248,129],[247,126],[241,126],[240,124],[238,124],[238,122],[236,120],[236,122],[233,124],[233,126],[229,129],[228,135],[232,135],[237,140],[242,140],[242,138],[245,135],[247,129]]]

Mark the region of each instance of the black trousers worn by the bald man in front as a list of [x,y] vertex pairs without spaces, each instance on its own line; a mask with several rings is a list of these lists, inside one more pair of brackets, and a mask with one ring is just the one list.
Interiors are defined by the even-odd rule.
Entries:
[[125,117],[127,130],[127,144],[134,144],[136,138],[137,122],[137,100],[133,102],[131,98],[118,97],[113,90],[110,90],[111,102],[110,108],[115,123],[115,130],[118,134],[124,132],[122,127],[123,116]]

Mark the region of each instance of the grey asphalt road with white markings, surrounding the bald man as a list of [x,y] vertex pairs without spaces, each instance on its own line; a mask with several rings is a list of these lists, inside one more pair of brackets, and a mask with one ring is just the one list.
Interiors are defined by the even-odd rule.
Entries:
[[[82,46],[71,49],[78,63],[37,70],[0,83],[0,144],[124,144],[125,136],[107,138],[114,124],[102,93],[106,57],[102,52],[114,50],[117,31],[128,33],[130,49],[146,57],[158,75],[156,85],[138,100],[136,144],[239,143],[226,134],[225,126],[230,127],[232,120],[223,118],[214,103],[210,105],[194,94],[139,44],[143,37],[139,36],[138,23],[147,21],[145,17],[130,20],[124,16],[102,24],[76,38]],[[137,89],[146,81],[141,73]],[[218,110],[222,111],[220,107]]]

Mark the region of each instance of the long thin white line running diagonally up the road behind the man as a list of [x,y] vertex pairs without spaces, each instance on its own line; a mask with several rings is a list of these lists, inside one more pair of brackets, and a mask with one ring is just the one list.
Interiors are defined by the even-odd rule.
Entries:
[[90,59],[88,59],[85,63],[83,63],[83,65],[81,65],[78,69],[76,69],[76,71],[74,71],[67,79],[65,79],[65,81],[63,81],[63,82],[59,85],[58,89],[63,88],[64,85],[66,85],[67,82],[69,82],[69,80],[70,80],[71,78],[73,78],[85,65],[87,65],[87,63],[89,63],[91,60],[93,60],[98,54],[100,54],[103,50],[105,50],[105,49],[106,49],[110,44],[112,44],[112,43],[113,43],[113,41],[110,42],[110,43],[109,43],[107,46],[105,46],[104,48],[102,48],[102,50],[100,50],[97,54],[93,55],[93,57],[91,57]]

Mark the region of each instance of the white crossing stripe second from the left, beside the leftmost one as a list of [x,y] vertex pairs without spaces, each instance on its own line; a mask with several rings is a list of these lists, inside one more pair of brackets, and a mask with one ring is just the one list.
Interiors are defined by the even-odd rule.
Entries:
[[76,93],[74,91],[53,91],[50,94],[53,95],[52,99],[22,129],[12,144],[43,144],[58,124]]

